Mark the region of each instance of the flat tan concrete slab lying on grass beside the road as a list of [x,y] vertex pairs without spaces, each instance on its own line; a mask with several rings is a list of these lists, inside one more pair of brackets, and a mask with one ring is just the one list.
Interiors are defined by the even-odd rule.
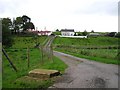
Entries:
[[47,70],[47,69],[34,69],[29,72],[30,77],[35,77],[35,78],[51,78],[54,76],[58,76],[60,72],[58,70]]

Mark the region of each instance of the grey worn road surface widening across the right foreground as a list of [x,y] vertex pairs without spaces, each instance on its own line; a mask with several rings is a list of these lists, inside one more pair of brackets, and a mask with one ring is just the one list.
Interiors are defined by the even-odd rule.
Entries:
[[118,88],[118,66],[54,51],[68,68],[51,88]]

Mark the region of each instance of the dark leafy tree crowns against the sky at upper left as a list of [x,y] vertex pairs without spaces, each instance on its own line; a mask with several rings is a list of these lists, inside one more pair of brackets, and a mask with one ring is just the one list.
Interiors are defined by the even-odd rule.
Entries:
[[12,34],[19,34],[27,29],[35,29],[34,24],[31,22],[31,18],[26,15],[16,17],[13,21],[10,18],[3,18],[2,23],[11,30]]

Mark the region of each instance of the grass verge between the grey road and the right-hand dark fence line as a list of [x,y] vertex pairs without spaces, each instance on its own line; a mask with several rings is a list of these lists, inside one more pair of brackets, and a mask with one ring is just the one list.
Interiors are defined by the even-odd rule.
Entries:
[[[69,49],[59,48],[59,49],[55,49],[55,50],[60,51],[60,52],[64,52],[66,54],[70,54],[70,55],[73,55],[73,56],[77,56],[77,57],[80,57],[80,58],[86,58],[86,59],[89,59],[89,60],[94,60],[94,61],[98,61],[98,62],[102,62],[102,63],[118,64],[117,57],[114,57],[113,55],[112,56],[110,56],[110,55],[107,56],[108,53],[101,53],[99,50],[95,51],[96,53],[94,51],[93,52],[92,51],[90,51],[90,52],[82,51],[82,54],[81,54],[81,50],[75,51],[74,49],[71,49],[71,48],[69,48]],[[103,52],[104,50],[101,50],[101,51]],[[111,51],[109,51],[109,52],[111,52]],[[101,56],[99,56],[99,54],[101,54]],[[116,53],[114,53],[114,54],[116,54]],[[110,58],[109,56],[112,57],[112,58]]]

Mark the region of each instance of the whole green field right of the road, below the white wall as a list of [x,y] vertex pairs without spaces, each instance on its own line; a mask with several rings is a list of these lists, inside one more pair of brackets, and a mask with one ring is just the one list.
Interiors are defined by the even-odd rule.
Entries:
[[108,64],[118,64],[118,38],[60,38],[54,40],[54,49],[77,57]]

